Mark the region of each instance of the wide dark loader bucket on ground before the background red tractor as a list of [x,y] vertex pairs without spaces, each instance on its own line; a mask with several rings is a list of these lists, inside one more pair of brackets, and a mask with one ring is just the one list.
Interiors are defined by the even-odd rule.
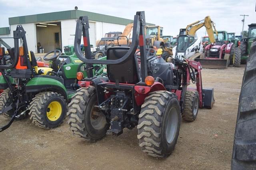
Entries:
[[218,69],[227,69],[228,68],[228,60],[224,59],[198,59],[195,61],[200,62],[202,68],[218,68]]

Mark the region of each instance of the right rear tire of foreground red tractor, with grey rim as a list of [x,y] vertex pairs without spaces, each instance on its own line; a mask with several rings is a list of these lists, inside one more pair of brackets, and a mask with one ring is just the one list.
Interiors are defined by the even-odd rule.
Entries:
[[174,93],[150,93],[141,106],[137,126],[142,151],[158,158],[170,155],[178,140],[180,121],[180,104]]

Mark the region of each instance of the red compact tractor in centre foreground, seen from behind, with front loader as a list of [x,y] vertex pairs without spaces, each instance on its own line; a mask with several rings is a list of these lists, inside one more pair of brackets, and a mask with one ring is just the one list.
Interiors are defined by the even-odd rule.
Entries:
[[[120,135],[124,128],[137,126],[142,151],[163,158],[174,150],[181,118],[194,121],[199,107],[212,108],[213,89],[202,88],[200,63],[184,58],[167,63],[154,49],[146,49],[145,25],[144,12],[137,12],[131,46],[111,47],[107,60],[95,60],[90,55],[88,17],[79,18],[74,47],[86,63],[88,78],[77,73],[81,88],[69,104],[68,124],[74,135],[88,142],[102,139],[107,131]],[[86,57],[80,48],[82,36]],[[107,76],[93,76],[93,63],[107,64]],[[196,88],[188,88],[190,81]]]

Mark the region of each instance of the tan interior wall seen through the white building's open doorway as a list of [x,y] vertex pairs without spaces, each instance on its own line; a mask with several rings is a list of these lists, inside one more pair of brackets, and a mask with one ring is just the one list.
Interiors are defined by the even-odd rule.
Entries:
[[[59,33],[59,44],[55,43],[54,33]],[[40,42],[45,53],[56,48],[62,48],[60,23],[58,25],[47,25],[47,27],[36,27],[36,43]]]

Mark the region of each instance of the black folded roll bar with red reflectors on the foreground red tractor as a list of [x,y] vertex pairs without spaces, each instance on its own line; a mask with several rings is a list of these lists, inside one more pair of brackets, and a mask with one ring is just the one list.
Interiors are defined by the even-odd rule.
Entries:
[[[134,25],[133,25],[133,33],[132,33],[132,45],[129,51],[120,59],[116,60],[96,60],[91,57],[91,49],[90,49],[90,39],[89,39],[89,20],[88,16],[81,16],[76,22],[76,35],[74,41],[74,50],[76,56],[86,63],[87,68],[91,68],[91,64],[119,64],[125,61],[128,57],[134,57],[136,49],[138,45],[140,45],[140,55],[144,56],[141,59],[142,64],[142,80],[144,80],[145,76],[147,76],[147,66],[146,66],[146,47],[145,47],[145,31],[144,26],[146,25],[145,14],[144,11],[136,12],[134,16]],[[80,44],[81,37],[83,36],[84,47],[85,47],[85,57],[82,54]],[[144,69],[143,69],[144,68]],[[92,77],[92,75],[88,75],[88,77]]]

